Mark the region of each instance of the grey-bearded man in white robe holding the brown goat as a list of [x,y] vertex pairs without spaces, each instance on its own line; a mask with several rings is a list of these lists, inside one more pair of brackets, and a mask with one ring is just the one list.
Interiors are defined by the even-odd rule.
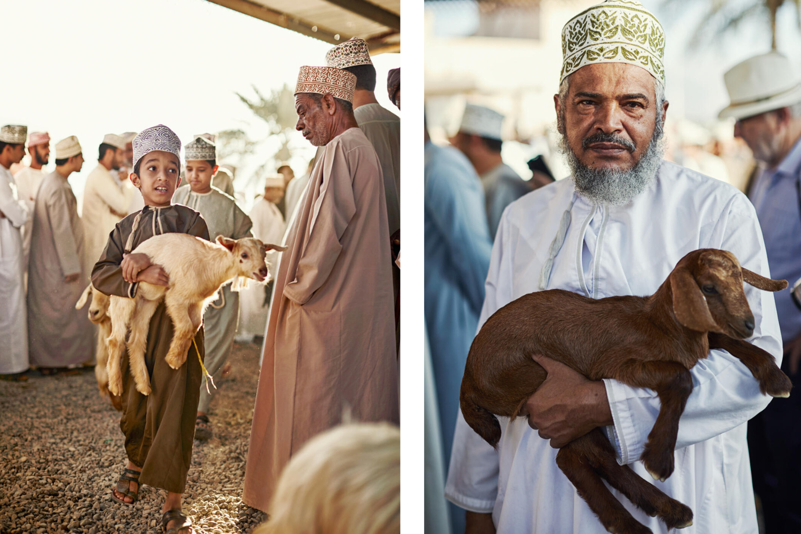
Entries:
[[[635,16],[638,25],[626,27]],[[628,33],[599,31],[610,19]],[[611,0],[572,18],[562,38],[554,103],[572,177],[507,207],[479,324],[531,291],[561,288],[595,299],[650,295],[698,248],[731,251],[743,267],[769,276],[762,232],[745,195],[662,161],[667,102],[664,33],[656,18],[638,2]],[[780,363],[774,297],[750,286],[745,292],[756,324],[748,341]],[[528,420],[501,418],[497,450],[460,415],[445,495],[468,510],[468,532],[601,534],[601,522],[557,468],[556,448],[605,427],[618,462],[652,480],[639,458],[658,397],[614,379],[590,381],[547,355],[535,359],[548,377],[526,404]],[[746,423],[770,397],[726,351],[710,351],[690,373],[694,388],[678,427],[676,469],[654,484],[692,508],[694,524],[682,532],[757,532]],[[639,523],[667,532],[613,493]]]

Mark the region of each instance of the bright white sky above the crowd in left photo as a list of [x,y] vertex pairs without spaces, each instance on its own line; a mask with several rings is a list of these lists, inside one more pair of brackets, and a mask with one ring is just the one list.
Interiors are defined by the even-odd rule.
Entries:
[[[77,135],[87,160],[70,176],[78,198],[107,133],[163,123],[183,144],[196,133],[233,128],[264,139],[264,121],[235,91],[255,98],[252,85],[264,95],[284,83],[294,89],[299,67],[324,65],[333,46],[206,0],[3,2],[2,26],[3,41],[17,46],[2,58],[0,125],[48,131],[48,170],[55,143]],[[400,54],[373,62],[376,97],[396,111],[385,87]],[[290,147],[290,164],[302,175],[314,148],[300,132]],[[274,150],[265,152],[237,170],[235,185]]]

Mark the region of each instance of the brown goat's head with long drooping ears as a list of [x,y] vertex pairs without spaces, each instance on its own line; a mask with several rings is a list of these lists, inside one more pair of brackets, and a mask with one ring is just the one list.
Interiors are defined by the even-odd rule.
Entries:
[[743,282],[764,291],[781,291],[787,280],[771,280],[740,267],[729,251],[692,251],[670,273],[673,311],[679,323],[695,331],[712,331],[735,339],[754,333],[754,314]]

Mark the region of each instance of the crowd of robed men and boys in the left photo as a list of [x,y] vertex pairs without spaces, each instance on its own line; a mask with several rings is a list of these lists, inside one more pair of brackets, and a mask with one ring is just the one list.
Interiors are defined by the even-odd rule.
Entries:
[[[296,86],[296,129],[319,147],[316,159],[300,178],[288,165],[278,166],[249,215],[232,196],[231,177],[219,168],[214,135],[195,135],[186,143],[183,166],[177,163],[180,140],[167,126],[106,135],[97,167],[87,177],[79,217],[68,181],[84,163],[78,139],[55,144],[55,169],[46,174],[49,135],[28,135],[26,126],[0,129],[4,379],[26,380],[30,367],[50,375],[91,364],[96,333],[75,304],[90,280],[97,291],[129,297],[140,281],[166,284],[159,266],[131,254],[135,243],[151,235],[255,236],[286,244],[280,259],[268,258],[272,292],[252,288],[240,305],[224,287],[198,335],[204,347],[199,353],[212,374],[231,351],[240,309],[244,330],[264,335],[244,500],[265,511],[284,465],[312,436],[340,424],[344,412],[356,420],[399,424],[400,277],[392,244],[400,243],[400,118],[376,100],[367,42],[353,38],[325,59],[327,66],[301,67]],[[390,72],[388,94],[400,108],[400,69]],[[30,164],[21,167],[26,151]],[[170,174],[173,165],[183,167],[186,182],[172,190],[175,195],[170,190],[175,183],[169,185],[177,178]],[[171,194],[166,203],[159,200],[163,191]],[[126,263],[136,267],[126,267],[122,275]],[[169,320],[158,312],[155,317]],[[159,329],[168,343],[171,330],[161,324]],[[148,343],[147,358],[163,359],[162,341]],[[123,386],[121,428],[129,462],[113,492],[119,503],[135,502],[141,476],[143,483],[167,489],[166,512],[175,512],[176,502],[179,506],[186,473],[171,470],[180,462],[169,451],[191,455],[192,436],[179,449],[170,444],[183,439],[186,420],[195,423],[195,439],[212,434],[211,394],[205,388],[200,387],[196,414],[194,407],[187,412],[183,406],[183,395],[198,398],[195,364],[187,363],[187,378],[175,382],[173,371],[156,363],[151,379],[171,385],[160,392],[154,388],[147,398]],[[163,376],[155,377],[159,373]],[[176,387],[193,392],[176,396]],[[173,404],[175,410],[165,408]],[[149,410],[167,414],[155,428]],[[169,523],[184,532],[189,524],[180,515],[165,515],[165,528]]]

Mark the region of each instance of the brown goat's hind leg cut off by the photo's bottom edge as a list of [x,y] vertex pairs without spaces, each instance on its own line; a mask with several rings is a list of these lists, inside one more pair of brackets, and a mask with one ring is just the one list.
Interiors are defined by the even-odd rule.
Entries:
[[556,464],[576,487],[578,495],[598,516],[607,532],[653,534],[650,528],[635,520],[603,484],[594,470],[596,466],[590,464],[590,458],[583,454],[583,449],[588,447],[592,448],[593,445],[588,443],[586,436],[582,436],[561,448],[556,455]]

